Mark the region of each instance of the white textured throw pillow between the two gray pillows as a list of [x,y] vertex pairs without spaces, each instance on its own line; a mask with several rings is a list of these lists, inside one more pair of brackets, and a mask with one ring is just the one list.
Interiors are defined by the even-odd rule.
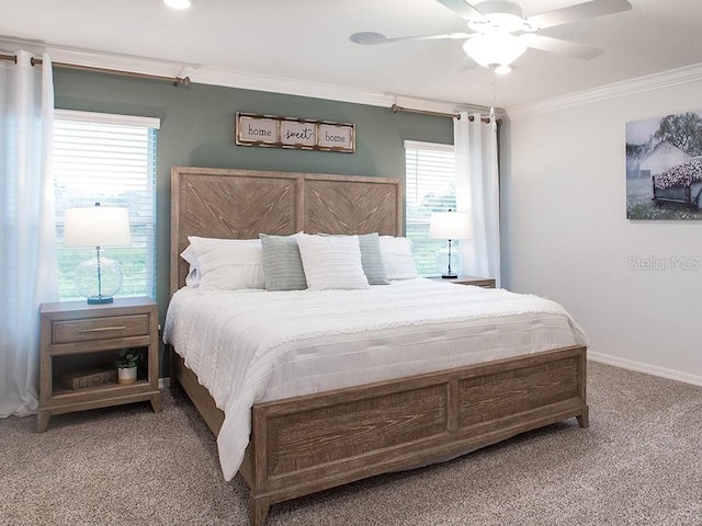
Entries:
[[361,264],[356,236],[331,237],[298,233],[297,245],[305,268],[307,288],[369,288]]

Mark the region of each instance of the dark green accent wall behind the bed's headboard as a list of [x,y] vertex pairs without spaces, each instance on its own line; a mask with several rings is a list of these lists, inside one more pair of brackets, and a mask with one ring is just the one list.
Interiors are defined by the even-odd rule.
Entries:
[[[169,301],[171,167],[237,168],[404,178],[404,140],[453,142],[450,118],[387,107],[207,84],[54,70],[58,108],[158,117],[157,301]],[[236,146],[235,114],[248,112],[355,124],[354,153]],[[161,361],[161,376],[165,376]]]

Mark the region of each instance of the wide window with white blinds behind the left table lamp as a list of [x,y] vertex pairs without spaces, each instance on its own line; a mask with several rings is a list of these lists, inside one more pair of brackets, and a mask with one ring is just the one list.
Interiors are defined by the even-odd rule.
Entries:
[[158,118],[57,110],[54,119],[54,190],[59,298],[81,299],[73,272],[94,254],[61,247],[68,208],[122,206],[129,210],[132,245],[106,248],[122,264],[116,296],[156,297],[156,130]]

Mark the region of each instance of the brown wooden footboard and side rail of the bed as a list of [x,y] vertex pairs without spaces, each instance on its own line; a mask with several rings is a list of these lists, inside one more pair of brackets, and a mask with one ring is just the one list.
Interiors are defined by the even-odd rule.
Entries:
[[[182,359],[173,379],[217,433],[223,414]],[[271,504],[469,453],[569,418],[588,426],[586,347],[258,403],[240,472],[250,516]]]

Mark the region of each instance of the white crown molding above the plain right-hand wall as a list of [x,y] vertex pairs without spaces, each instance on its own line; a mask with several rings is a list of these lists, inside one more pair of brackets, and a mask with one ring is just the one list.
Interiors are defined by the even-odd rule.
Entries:
[[695,64],[659,73],[638,77],[636,79],[607,84],[592,90],[585,90],[563,96],[545,99],[531,104],[512,106],[507,110],[507,113],[509,118],[514,121],[542,113],[557,112],[559,110],[580,106],[584,104],[591,104],[595,102],[608,101],[621,96],[700,81],[702,81],[702,64]]

